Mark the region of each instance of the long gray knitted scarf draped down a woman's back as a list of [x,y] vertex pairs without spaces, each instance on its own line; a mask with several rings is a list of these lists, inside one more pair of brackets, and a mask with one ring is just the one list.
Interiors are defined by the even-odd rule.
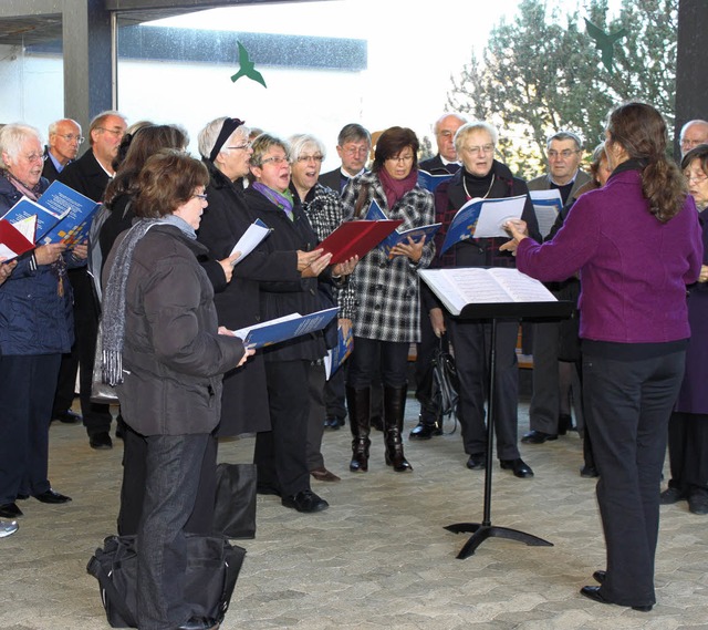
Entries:
[[125,337],[125,288],[131,273],[135,246],[156,225],[174,225],[190,239],[196,239],[194,228],[184,219],[167,215],[159,219],[139,219],[128,230],[116,252],[103,295],[102,310],[112,317],[102,319],[103,382],[117,385],[123,382],[123,341]]

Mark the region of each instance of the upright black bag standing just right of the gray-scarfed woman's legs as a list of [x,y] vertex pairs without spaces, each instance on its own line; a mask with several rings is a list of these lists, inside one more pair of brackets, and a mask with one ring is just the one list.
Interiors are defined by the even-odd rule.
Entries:
[[256,464],[219,464],[214,530],[227,538],[256,537]]

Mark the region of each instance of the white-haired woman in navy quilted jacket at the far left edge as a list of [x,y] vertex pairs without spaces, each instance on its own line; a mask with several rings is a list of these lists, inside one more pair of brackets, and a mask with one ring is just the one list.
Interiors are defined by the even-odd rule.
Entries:
[[[40,198],[43,145],[22,123],[0,130],[0,216],[23,196]],[[65,252],[42,245],[17,259],[0,289],[0,517],[22,515],[15,500],[71,500],[48,479],[49,424],[62,353],[74,341],[66,264],[86,257],[85,246]]]

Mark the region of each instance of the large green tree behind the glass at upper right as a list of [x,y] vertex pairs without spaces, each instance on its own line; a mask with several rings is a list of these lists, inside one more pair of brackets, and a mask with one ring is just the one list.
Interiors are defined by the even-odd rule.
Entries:
[[[513,21],[492,29],[482,59],[472,54],[452,79],[448,107],[499,126],[503,159],[528,177],[544,171],[550,133],[579,132],[592,149],[623,101],[652,103],[671,128],[678,0],[623,0],[616,19],[606,16],[606,0],[587,0],[582,14],[523,0]],[[608,34],[625,30],[612,70],[583,18]]]

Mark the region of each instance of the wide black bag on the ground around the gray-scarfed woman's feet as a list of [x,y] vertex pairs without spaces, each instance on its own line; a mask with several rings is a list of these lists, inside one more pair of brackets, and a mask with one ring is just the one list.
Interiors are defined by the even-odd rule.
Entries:
[[[137,537],[108,536],[86,570],[100,583],[101,600],[112,628],[137,628]],[[190,617],[223,620],[246,549],[222,536],[187,534],[185,601]]]

